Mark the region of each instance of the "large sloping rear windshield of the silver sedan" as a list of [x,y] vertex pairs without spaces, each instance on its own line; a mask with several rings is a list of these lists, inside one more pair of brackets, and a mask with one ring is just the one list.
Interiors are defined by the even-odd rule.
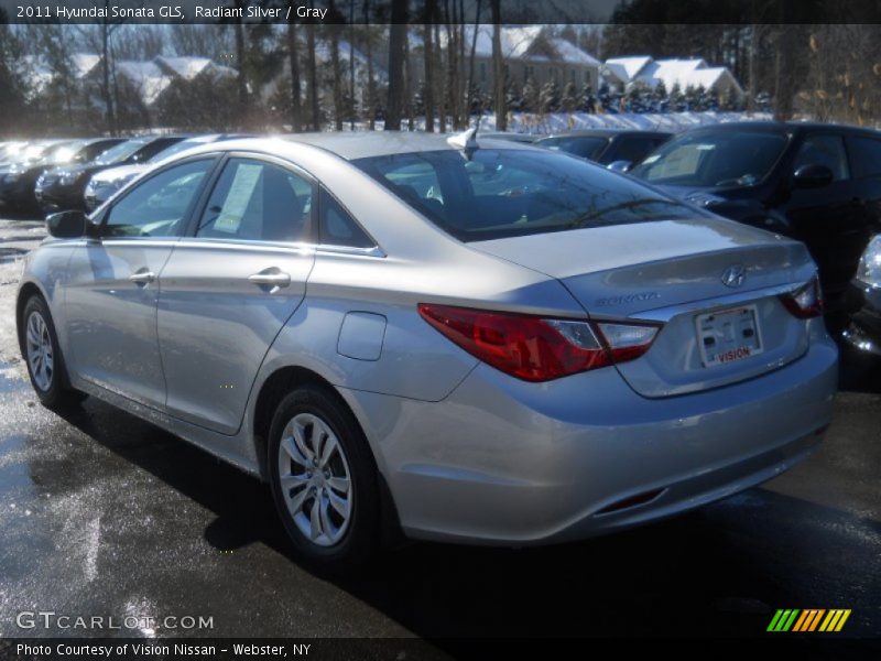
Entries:
[[461,241],[701,213],[623,175],[567,154],[478,149],[352,161]]

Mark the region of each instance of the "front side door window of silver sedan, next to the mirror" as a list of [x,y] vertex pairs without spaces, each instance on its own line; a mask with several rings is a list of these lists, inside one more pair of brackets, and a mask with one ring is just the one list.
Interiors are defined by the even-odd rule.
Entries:
[[213,161],[191,161],[151,176],[113,204],[104,228],[110,237],[176,237]]

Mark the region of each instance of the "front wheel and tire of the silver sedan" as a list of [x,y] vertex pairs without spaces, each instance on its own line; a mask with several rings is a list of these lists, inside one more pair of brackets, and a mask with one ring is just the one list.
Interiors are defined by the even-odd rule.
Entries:
[[69,386],[58,336],[42,296],[31,296],[21,318],[21,353],[36,397],[47,409],[73,407],[86,394]]

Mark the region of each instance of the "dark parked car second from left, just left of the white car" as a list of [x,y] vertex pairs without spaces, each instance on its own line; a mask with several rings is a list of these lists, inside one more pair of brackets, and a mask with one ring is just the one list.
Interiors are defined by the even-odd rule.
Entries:
[[61,165],[44,172],[36,181],[34,195],[45,212],[85,209],[84,193],[89,180],[101,170],[144,163],[185,136],[145,136],[112,147],[89,163]]

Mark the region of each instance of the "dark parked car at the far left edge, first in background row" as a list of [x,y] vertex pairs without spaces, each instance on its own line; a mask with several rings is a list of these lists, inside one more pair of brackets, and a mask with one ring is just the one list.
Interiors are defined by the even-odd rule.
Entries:
[[7,170],[0,178],[0,202],[17,212],[35,212],[39,204],[34,191],[43,172],[59,165],[88,163],[120,142],[121,138],[93,138],[56,143],[39,159],[17,163]]

